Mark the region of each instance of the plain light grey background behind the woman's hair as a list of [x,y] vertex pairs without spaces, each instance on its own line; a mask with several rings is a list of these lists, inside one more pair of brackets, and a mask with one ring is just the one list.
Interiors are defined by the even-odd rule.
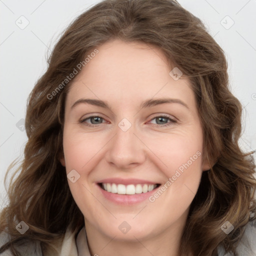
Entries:
[[[73,18],[97,2],[0,0],[0,208],[6,203],[3,177],[7,166],[17,156],[22,158],[26,99],[46,70],[46,53]],[[256,0],[179,0],[179,3],[204,22],[225,51],[232,92],[244,106],[240,144],[244,150],[255,149]],[[232,20],[234,24],[230,26]],[[29,24],[23,28],[26,22]]]

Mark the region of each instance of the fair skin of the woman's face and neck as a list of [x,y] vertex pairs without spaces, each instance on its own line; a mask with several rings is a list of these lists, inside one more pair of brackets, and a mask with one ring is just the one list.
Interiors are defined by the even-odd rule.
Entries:
[[[67,174],[74,169],[80,175],[68,184],[84,216],[90,253],[178,256],[189,205],[202,171],[209,169],[198,154],[203,137],[194,93],[183,76],[174,80],[169,75],[167,60],[156,47],[111,40],[97,49],[67,94],[60,160]],[[166,97],[184,104],[139,107],[144,100]],[[71,107],[81,98],[103,100],[110,108],[84,102]],[[123,118],[131,124],[126,131],[118,126]],[[122,202],[133,195],[120,194],[117,203],[98,185],[105,178],[137,178],[162,187],[196,152],[196,159],[153,202],[149,195],[159,187],[136,203]],[[126,233],[118,228],[123,221],[130,226]]]

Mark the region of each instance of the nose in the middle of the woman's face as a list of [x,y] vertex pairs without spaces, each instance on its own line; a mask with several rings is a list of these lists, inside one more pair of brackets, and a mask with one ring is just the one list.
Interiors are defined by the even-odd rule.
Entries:
[[123,170],[141,164],[145,160],[146,146],[139,134],[134,125],[126,131],[117,125],[115,135],[107,143],[107,162]]

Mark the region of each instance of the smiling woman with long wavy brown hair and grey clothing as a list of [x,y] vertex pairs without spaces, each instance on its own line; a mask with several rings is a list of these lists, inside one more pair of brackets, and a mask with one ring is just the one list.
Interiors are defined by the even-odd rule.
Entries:
[[171,0],[102,1],[48,63],[1,212],[2,255],[255,253],[242,108],[198,18]]

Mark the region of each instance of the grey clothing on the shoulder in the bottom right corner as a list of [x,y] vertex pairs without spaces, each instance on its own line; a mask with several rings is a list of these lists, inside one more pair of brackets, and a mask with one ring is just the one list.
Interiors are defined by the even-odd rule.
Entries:
[[[222,246],[218,246],[217,252],[218,256],[232,256]],[[244,234],[239,240],[235,252],[238,256],[256,255],[256,219],[249,221],[245,225]]]

